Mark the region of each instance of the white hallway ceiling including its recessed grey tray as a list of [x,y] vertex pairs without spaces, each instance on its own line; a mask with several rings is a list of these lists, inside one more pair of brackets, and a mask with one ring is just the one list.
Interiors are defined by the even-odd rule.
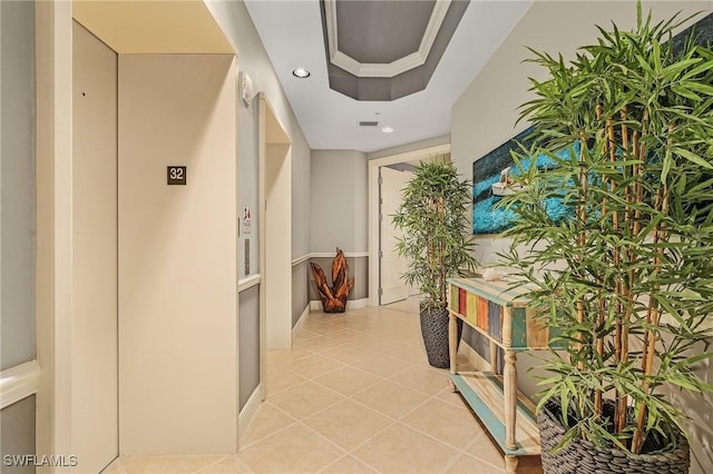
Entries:
[[531,2],[245,4],[310,147],[370,152],[448,135],[452,105]]

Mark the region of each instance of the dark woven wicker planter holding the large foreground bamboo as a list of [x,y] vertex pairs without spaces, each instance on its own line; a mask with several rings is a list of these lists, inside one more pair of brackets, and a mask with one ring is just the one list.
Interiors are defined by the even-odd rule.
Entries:
[[566,447],[551,454],[559,444],[565,429],[555,416],[559,413],[556,403],[546,404],[537,414],[541,444],[543,470],[546,474],[685,474],[688,472],[688,443],[680,434],[678,447],[671,453],[627,454],[618,450],[598,447],[575,438]]

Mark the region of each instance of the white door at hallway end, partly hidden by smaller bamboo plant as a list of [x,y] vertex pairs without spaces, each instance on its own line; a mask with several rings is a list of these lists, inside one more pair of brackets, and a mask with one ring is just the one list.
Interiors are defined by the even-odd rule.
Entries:
[[387,167],[381,167],[379,170],[381,177],[379,186],[379,195],[381,197],[379,304],[388,305],[409,297],[409,286],[401,278],[401,275],[408,268],[408,261],[397,254],[397,240],[402,233],[393,226],[392,216],[403,201],[402,190],[411,179],[412,174]]

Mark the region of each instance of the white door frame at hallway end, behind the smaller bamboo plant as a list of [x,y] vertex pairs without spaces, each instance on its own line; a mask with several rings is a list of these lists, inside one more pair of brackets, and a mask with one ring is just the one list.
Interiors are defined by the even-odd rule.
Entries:
[[450,142],[369,160],[369,306],[379,306],[379,168],[450,152]]

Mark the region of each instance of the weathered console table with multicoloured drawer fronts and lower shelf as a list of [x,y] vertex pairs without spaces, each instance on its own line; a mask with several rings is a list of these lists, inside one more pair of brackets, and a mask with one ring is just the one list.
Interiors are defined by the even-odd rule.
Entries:
[[[450,385],[460,392],[505,455],[506,471],[517,472],[518,457],[540,454],[535,405],[517,389],[517,353],[547,349],[549,327],[526,308],[524,289],[505,282],[451,278],[449,300]],[[459,373],[457,319],[490,343],[490,371]],[[498,347],[505,353],[498,373]]]

